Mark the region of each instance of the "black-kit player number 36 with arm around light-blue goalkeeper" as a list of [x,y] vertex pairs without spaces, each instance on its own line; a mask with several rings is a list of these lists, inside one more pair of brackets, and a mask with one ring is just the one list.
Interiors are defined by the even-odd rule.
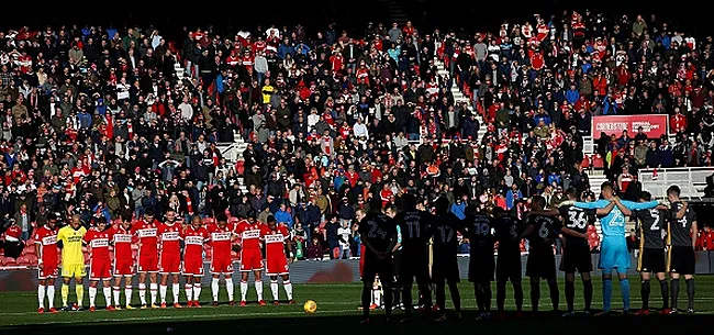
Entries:
[[[578,191],[569,188],[567,191],[568,200],[578,200]],[[560,270],[566,272],[566,303],[568,311],[562,316],[573,316],[576,301],[576,271],[580,272],[582,279],[583,298],[585,300],[585,314],[590,314],[592,304],[592,256],[590,255],[590,245],[588,244],[588,225],[595,222],[595,213],[606,215],[615,206],[611,202],[606,208],[594,210],[579,209],[574,205],[560,206],[560,217],[565,226],[560,234],[565,237],[562,247],[562,257],[560,258]]]

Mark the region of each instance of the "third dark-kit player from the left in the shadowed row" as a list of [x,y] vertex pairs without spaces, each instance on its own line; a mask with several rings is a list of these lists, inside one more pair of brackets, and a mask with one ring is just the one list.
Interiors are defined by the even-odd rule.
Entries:
[[[461,295],[459,293],[459,266],[457,261],[459,242],[457,232],[464,234],[461,221],[449,212],[449,201],[445,197],[439,197],[434,205],[436,208],[436,217],[432,225],[432,235],[434,236],[433,246],[433,265],[432,281],[434,282],[436,309],[444,309],[446,304],[445,282],[449,287],[451,301],[456,317],[461,317]],[[436,321],[446,321],[446,313],[440,313]]]

